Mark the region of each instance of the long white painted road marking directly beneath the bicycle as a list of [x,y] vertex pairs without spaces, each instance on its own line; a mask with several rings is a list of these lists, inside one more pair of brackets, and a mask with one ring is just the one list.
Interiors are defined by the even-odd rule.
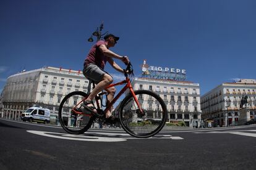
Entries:
[[[86,134],[74,135],[74,134],[63,134],[58,132],[46,132],[46,131],[27,131],[32,134],[37,134],[40,136],[53,137],[58,139],[67,140],[79,140],[79,141],[89,141],[89,142],[124,142],[130,139],[142,139],[131,137],[129,134],[117,134],[117,133],[103,133],[103,132],[87,132]],[[179,136],[162,136],[156,135],[150,138],[143,139],[174,139],[181,140],[182,137]]]

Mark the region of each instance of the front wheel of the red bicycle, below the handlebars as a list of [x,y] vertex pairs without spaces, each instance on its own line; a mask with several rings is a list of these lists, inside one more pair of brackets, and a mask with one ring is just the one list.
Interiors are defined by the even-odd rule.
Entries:
[[134,137],[151,137],[161,131],[166,122],[166,105],[154,92],[139,90],[134,92],[143,113],[140,112],[132,94],[122,100],[119,119],[128,134]]

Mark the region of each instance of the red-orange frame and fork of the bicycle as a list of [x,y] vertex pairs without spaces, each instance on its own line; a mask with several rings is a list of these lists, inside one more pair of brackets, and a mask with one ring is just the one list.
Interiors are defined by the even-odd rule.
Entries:
[[[124,86],[121,91],[116,95],[116,97],[114,97],[114,99],[106,106],[104,112],[106,113],[107,111],[109,111],[111,109],[111,107],[114,105],[114,103],[119,99],[119,97],[121,97],[122,94],[124,94],[124,92],[129,89],[130,92],[132,93],[132,96],[134,97],[134,100],[137,104],[137,106],[139,107],[139,110],[140,110],[140,113],[143,113],[142,111],[142,108],[140,106],[140,103],[139,103],[139,100],[137,99],[135,93],[134,93],[134,89],[132,89],[132,85],[130,84],[130,79],[128,77],[126,77],[126,80],[123,80],[123,81],[120,81],[118,83],[114,83],[114,84],[109,84],[108,87],[106,87],[106,89],[108,89],[109,87],[114,87],[114,86],[119,86],[119,85],[122,85],[122,84],[126,84],[126,86]],[[97,97],[97,95],[96,95]],[[95,97],[95,98],[96,98]],[[84,98],[83,100],[81,100],[77,105],[75,105],[74,108],[76,108],[80,103],[82,103],[84,100],[86,100],[86,98]],[[98,108],[100,108],[100,103],[98,102],[98,100],[96,99],[96,105]],[[79,114],[79,115],[88,115],[88,116],[91,116],[90,113],[82,113],[80,111],[76,111],[74,110],[74,108],[72,108],[72,111],[74,111],[76,114]]]

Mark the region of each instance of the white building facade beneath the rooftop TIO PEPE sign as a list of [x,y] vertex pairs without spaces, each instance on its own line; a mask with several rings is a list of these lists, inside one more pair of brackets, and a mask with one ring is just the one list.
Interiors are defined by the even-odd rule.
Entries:
[[[166,103],[168,122],[184,121],[186,126],[200,127],[200,87],[198,83],[171,81],[164,79],[135,78],[134,90],[156,92]],[[153,108],[153,110],[156,108]]]

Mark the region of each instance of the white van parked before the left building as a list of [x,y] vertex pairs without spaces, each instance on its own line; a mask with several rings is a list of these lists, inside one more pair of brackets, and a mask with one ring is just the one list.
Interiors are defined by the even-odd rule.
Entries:
[[21,117],[22,121],[33,122],[36,121],[38,123],[49,123],[50,118],[50,110],[41,107],[30,107],[24,113],[22,113]]

